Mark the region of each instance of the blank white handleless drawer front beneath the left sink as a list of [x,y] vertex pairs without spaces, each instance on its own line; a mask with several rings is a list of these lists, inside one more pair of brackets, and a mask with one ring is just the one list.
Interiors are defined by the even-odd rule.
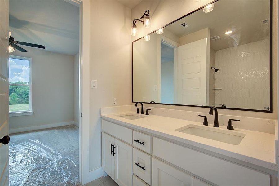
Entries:
[[102,120],[102,130],[110,135],[117,137],[129,144],[133,144],[133,130],[124,126],[117,125],[106,120]]

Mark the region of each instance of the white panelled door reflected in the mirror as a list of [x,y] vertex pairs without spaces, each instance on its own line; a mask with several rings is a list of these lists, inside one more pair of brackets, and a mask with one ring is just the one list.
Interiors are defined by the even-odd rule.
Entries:
[[177,103],[206,105],[206,42],[201,39],[177,48]]

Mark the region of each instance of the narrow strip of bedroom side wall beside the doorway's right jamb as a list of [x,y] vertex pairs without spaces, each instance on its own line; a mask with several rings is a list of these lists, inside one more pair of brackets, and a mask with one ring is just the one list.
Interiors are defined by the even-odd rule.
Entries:
[[78,110],[78,102],[79,102],[79,54],[74,56],[74,124],[78,127],[78,119],[79,119],[79,110]]

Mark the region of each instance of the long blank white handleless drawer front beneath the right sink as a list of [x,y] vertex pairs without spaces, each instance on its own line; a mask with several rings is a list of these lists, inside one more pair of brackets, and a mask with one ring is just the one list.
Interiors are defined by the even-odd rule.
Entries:
[[270,185],[270,175],[153,137],[153,154],[217,185]]

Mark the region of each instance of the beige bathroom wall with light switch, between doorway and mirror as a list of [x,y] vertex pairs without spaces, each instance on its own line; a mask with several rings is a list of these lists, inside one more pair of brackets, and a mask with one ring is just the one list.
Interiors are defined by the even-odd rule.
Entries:
[[[83,97],[83,102],[90,103],[89,146],[83,148],[89,148],[89,171],[94,172],[101,167],[100,107],[112,106],[112,98],[117,98],[117,105],[131,103],[131,9],[117,1],[83,3],[90,6],[90,33],[83,42],[86,44],[86,39],[90,42],[86,46],[90,54],[90,79],[98,84],[97,89],[90,89],[90,100]],[[83,18],[87,19],[86,15]],[[87,32],[84,27],[83,30]],[[86,47],[83,54],[87,54]],[[83,58],[83,63],[87,63],[87,58]],[[83,86],[90,86],[89,79],[84,80]],[[82,112],[87,117],[87,111]]]

